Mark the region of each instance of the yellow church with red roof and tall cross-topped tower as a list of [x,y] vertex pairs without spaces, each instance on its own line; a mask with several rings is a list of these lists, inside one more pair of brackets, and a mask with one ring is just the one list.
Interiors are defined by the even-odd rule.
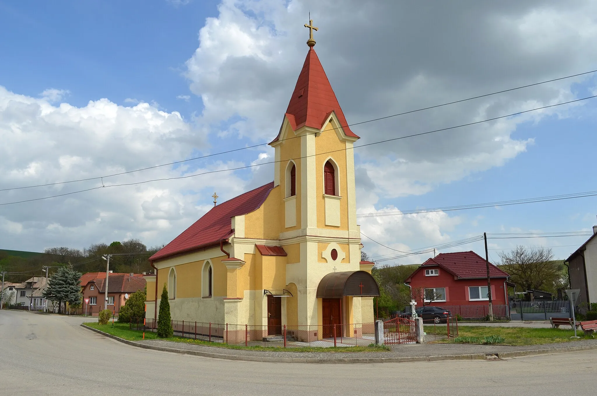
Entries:
[[252,332],[255,339],[282,334],[282,327],[302,341],[334,331],[361,336],[372,327],[379,290],[373,263],[361,261],[356,223],[359,137],[315,53],[312,24],[305,25],[309,51],[284,121],[269,143],[273,182],[214,202],[150,257],[147,319],[157,317],[165,285],[174,321],[247,324],[263,329]]

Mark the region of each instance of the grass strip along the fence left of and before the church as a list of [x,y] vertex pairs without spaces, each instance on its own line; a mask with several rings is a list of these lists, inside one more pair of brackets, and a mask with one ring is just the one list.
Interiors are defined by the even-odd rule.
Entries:
[[[112,322],[108,324],[99,324],[97,322],[90,322],[84,323],[86,326],[93,327],[94,329],[98,329],[104,331],[108,334],[112,334],[116,337],[124,338],[125,340],[131,341],[138,341],[143,339],[143,331],[140,330],[129,330],[128,324],[125,323],[114,323],[114,327],[112,327]],[[189,338],[181,338],[181,337],[170,337],[170,338],[159,338],[156,333],[153,331],[146,331],[145,332],[145,339],[146,340],[155,340],[161,339],[166,341],[174,341],[174,342],[182,342],[182,343],[191,343],[196,345],[206,345],[206,346],[217,346],[219,348],[229,348],[229,349],[245,349],[249,351],[290,351],[290,352],[383,352],[383,351],[390,351],[391,348],[389,346],[384,345],[371,345],[371,346],[337,346],[337,347],[330,347],[330,348],[322,348],[319,346],[300,346],[297,348],[281,348],[278,346],[244,346],[244,345],[234,345],[234,344],[226,344],[221,342],[207,342],[202,340],[195,340]]]

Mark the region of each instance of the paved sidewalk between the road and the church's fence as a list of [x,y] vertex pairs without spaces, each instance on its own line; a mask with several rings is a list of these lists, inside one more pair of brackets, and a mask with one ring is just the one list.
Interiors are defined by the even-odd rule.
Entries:
[[496,359],[523,355],[550,354],[555,352],[597,349],[597,340],[509,346],[470,344],[405,344],[393,346],[389,352],[291,352],[245,351],[242,349],[186,344],[164,340],[129,341],[103,331],[81,326],[104,334],[128,345],[157,351],[197,355],[226,360],[267,361],[276,363],[398,363],[404,361],[433,361],[452,359]]

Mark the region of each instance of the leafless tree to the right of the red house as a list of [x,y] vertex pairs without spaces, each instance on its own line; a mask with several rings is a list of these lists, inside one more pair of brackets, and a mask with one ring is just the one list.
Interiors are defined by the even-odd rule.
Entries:
[[562,270],[550,248],[516,246],[498,253],[500,268],[510,274],[510,281],[522,290],[554,290],[562,282]]

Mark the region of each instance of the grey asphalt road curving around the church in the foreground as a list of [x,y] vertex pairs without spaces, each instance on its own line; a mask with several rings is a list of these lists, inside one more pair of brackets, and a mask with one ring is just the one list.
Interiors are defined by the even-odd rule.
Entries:
[[0,311],[1,395],[593,394],[597,352],[501,361],[284,364],[128,346],[83,318]]

